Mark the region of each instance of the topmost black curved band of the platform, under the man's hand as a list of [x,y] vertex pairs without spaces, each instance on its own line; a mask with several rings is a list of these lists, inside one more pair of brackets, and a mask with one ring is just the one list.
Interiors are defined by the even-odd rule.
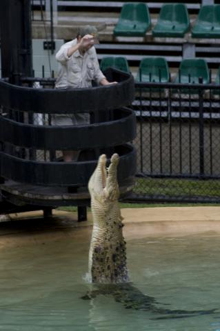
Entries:
[[[111,69],[112,70],[112,69]],[[14,86],[0,80],[0,104],[23,112],[58,114],[98,112],[128,106],[134,97],[133,77],[120,70],[106,70],[119,83],[110,86],[76,89],[37,89]]]

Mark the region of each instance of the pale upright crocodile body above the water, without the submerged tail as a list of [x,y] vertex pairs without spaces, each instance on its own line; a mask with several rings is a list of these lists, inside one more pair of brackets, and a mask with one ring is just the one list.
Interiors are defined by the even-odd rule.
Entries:
[[125,283],[129,278],[118,201],[119,155],[112,155],[108,168],[106,161],[106,154],[102,154],[88,183],[93,219],[89,275],[92,283]]

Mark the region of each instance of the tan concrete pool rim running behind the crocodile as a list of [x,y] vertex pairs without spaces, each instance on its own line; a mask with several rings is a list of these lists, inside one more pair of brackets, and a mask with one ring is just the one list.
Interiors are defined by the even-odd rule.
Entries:
[[[122,208],[121,213],[126,240],[220,234],[219,206]],[[91,230],[90,213],[81,223],[76,212],[54,210],[50,219],[43,219],[41,211],[10,214],[0,218],[0,249],[71,238],[89,241]]]

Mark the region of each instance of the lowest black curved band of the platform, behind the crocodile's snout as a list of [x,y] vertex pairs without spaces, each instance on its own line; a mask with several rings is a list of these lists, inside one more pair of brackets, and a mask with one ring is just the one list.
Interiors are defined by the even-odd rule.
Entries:
[[[102,152],[107,152],[103,150]],[[119,182],[133,176],[136,167],[136,153],[129,145],[119,146],[114,152],[119,152],[120,162]],[[13,181],[36,185],[87,185],[97,160],[82,162],[37,162],[19,159],[0,152],[1,173],[3,177]]]

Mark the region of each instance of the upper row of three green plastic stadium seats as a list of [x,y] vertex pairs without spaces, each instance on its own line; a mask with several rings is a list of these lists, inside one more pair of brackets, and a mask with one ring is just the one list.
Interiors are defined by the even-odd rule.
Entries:
[[[146,3],[125,3],[115,36],[143,37],[151,27]],[[152,29],[154,37],[184,37],[190,30],[188,9],[184,3],[163,4],[157,24]],[[192,38],[220,38],[220,5],[204,5],[199,10],[192,28]]]

